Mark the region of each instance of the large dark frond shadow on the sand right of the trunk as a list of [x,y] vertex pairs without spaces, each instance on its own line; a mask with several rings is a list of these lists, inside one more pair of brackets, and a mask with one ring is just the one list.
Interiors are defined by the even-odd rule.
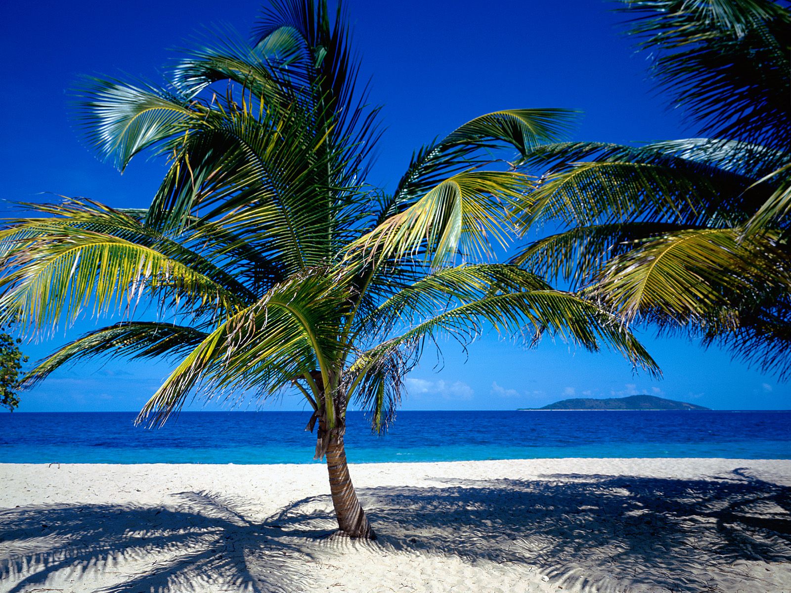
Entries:
[[[741,470],[716,481],[562,474],[446,482],[361,489],[380,545],[524,565],[555,585],[600,593],[735,591],[736,583],[761,591],[766,576],[751,562],[791,563],[791,488]],[[321,498],[283,509],[278,523],[300,523]]]

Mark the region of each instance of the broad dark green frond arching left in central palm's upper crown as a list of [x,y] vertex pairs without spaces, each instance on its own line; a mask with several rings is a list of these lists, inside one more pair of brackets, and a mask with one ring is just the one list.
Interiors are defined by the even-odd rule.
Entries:
[[147,224],[215,221],[290,271],[327,261],[354,188],[334,184],[345,164],[324,150],[311,120],[296,109],[207,118],[179,147]]

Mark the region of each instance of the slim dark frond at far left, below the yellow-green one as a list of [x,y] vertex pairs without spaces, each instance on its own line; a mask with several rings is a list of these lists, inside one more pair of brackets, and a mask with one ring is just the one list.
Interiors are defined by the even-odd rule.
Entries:
[[85,334],[60,347],[36,363],[22,380],[33,387],[55,369],[83,359],[97,357],[157,358],[186,354],[206,338],[206,333],[193,327],[173,323],[130,321]]

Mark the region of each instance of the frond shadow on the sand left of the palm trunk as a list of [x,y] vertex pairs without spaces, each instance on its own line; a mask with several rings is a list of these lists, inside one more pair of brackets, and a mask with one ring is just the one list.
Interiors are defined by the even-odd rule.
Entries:
[[75,583],[92,566],[108,580],[97,589],[103,593],[206,591],[218,584],[294,591],[305,579],[301,566],[311,561],[300,540],[326,534],[255,523],[236,501],[212,493],[180,493],[176,500],[171,508],[50,505],[0,513],[0,581],[8,587],[0,591],[36,589],[53,576],[81,590]]

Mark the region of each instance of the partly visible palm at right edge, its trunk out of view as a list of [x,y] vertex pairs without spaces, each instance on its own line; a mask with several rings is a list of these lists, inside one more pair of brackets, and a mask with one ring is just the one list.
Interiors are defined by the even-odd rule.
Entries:
[[653,74],[710,138],[543,145],[513,263],[565,278],[627,321],[689,332],[791,376],[791,13],[769,0],[626,0]]

